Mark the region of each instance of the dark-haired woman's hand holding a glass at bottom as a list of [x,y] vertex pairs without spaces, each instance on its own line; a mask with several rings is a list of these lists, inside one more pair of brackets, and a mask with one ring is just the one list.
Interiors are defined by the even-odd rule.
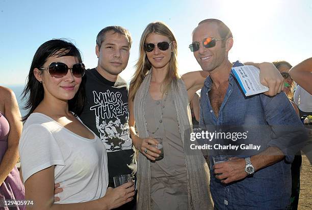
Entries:
[[117,188],[109,187],[105,196],[102,199],[99,199],[99,201],[103,202],[103,206],[106,205],[108,209],[112,209],[132,201],[135,194],[134,183],[130,181]]

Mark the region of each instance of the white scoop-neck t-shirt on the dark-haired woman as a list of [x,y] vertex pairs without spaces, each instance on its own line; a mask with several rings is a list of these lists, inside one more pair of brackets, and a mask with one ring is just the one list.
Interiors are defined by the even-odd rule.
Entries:
[[93,139],[84,138],[45,114],[32,113],[19,141],[23,181],[54,165],[55,183],[64,190],[56,203],[103,197],[108,185],[107,153],[99,137],[93,135]]

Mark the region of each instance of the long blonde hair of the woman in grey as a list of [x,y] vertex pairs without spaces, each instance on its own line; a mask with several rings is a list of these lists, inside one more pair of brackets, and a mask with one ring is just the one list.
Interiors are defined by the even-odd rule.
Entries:
[[151,22],[147,25],[140,40],[140,56],[136,63],[136,72],[131,80],[130,89],[129,89],[129,99],[132,101],[136,96],[136,92],[142,84],[146,74],[149,72],[151,68],[151,64],[146,56],[146,52],[144,50],[144,43],[147,36],[151,33],[167,36],[170,41],[174,41],[175,44],[171,44],[171,58],[169,61],[168,72],[163,81],[163,92],[170,87],[172,81],[177,80],[180,76],[178,74],[178,66],[177,66],[177,44],[176,39],[170,30],[170,28],[164,22]]

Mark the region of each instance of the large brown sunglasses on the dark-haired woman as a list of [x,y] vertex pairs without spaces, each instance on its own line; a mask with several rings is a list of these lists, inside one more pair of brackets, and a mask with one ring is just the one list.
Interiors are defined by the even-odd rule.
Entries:
[[49,75],[54,78],[65,77],[70,69],[74,77],[83,77],[86,72],[85,64],[76,63],[71,68],[69,68],[65,63],[61,62],[52,62],[47,68],[39,68],[42,70],[47,70]]

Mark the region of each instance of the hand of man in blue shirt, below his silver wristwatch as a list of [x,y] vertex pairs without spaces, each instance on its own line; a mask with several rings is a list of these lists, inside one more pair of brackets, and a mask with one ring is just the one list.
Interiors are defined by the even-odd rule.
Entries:
[[244,158],[231,157],[228,161],[215,164],[213,166],[214,174],[216,174],[217,179],[225,184],[241,180],[247,176],[245,165]]

